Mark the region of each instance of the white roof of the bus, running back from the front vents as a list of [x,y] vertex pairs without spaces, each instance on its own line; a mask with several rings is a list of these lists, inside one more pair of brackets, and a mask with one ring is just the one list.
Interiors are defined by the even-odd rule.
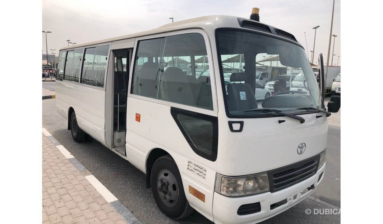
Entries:
[[[89,45],[94,45],[94,44],[108,43],[108,42],[119,41],[119,40],[123,40],[123,39],[137,38],[140,36],[148,36],[148,35],[152,35],[152,34],[166,33],[166,32],[170,32],[170,31],[176,31],[176,30],[182,30],[182,29],[202,28],[202,29],[205,29],[206,31],[208,31],[211,29],[214,30],[216,28],[221,28],[221,27],[242,28],[239,25],[238,19],[263,24],[263,23],[260,23],[257,21],[246,19],[246,18],[239,18],[237,16],[226,16],[226,15],[201,16],[201,17],[192,18],[192,19],[188,19],[188,20],[177,21],[174,23],[168,23],[168,24],[165,24],[163,26],[160,26],[159,28],[151,29],[148,31],[128,34],[128,35],[124,35],[124,36],[118,36],[115,38],[103,39],[103,40],[99,40],[99,41],[92,41],[92,42],[83,43],[83,44],[76,44],[74,46],[63,47],[60,49],[60,51],[64,50],[64,49],[71,49],[71,48],[89,46]],[[264,24],[264,25],[266,25],[266,24]],[[271,30],[274,30],[274,29],[276,30],[276,28],[274,28],[272,26],[269,26],[269,25],[266,25],[266,26],[268,26]],[[270,32],[270,33],[276,34],[277,32],[274,31],[274,32]]]

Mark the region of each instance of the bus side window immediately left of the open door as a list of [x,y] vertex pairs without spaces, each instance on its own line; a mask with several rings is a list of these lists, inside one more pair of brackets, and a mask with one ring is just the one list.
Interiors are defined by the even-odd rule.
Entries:
[[109,45],[86,48],[81,83],[104,87]]

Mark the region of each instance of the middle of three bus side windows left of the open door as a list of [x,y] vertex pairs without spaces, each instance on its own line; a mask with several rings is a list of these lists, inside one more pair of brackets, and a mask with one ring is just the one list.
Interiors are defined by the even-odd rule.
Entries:
[[64,80],[79,82],[82,49],[68,51],[64,69]]

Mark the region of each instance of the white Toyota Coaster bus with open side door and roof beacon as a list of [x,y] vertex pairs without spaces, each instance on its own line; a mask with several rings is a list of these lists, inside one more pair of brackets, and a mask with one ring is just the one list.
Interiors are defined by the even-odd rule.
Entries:
[[[276,83],[256,100],[256,61],[268,56],[302,70],[309,94]],[[250,19],[203,16],[64,47],[56,107],[76,142],[91,136],[144,172],[172,219],[195,209],[214,223],[255,223],[323,179],[340,96],[326,111],[322,71],[318,86],[301,44],[254,8]]]

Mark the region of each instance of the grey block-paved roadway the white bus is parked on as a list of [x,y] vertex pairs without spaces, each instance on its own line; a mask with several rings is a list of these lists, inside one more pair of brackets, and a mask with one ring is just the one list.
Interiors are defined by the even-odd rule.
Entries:
[[[74,142],[67,130],[67,120],[56,112],[56,99],[43,100],[43,127],[108,188],[143,224],[212,223],[198,212],[182,220],[172,220],[155,205],[151,189],[145,187],[145,175],[114,152],[92,140]],[[304,199],[277,216],[261,223],[340,223],[340,214],[306,214],[305,209],[329,209],[311,199]]]

